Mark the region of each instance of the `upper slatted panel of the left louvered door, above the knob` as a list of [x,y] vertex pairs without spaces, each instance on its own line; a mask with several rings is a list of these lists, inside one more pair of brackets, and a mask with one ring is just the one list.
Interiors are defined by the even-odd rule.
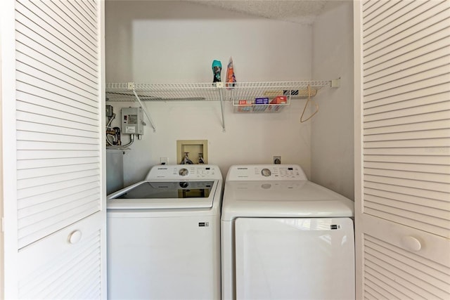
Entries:
[[95,1],[16,1],[18,244],[101,207]]

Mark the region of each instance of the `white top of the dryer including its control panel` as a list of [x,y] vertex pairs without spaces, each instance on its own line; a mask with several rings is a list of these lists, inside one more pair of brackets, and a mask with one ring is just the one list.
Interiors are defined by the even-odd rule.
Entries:
[[[221,219],[352,217],[354,202],[308,181],[299,166],[232,166]],[[269,169],[270,172],[264,172]],[[298,171],[297,171],[298,170]],[[231,174],[231,176],[230,176]],[[275,176],[277,175],[277,176]]]

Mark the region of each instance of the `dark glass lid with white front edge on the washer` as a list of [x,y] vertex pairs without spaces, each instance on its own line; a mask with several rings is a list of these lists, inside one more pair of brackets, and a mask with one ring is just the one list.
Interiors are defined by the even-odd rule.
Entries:
[[212,207],[219,181],[141,181],[108,195],[108,209]]

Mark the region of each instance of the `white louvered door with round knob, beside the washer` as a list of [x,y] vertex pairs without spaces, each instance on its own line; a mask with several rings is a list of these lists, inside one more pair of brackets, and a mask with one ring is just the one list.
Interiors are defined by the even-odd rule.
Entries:
[[4,169],[5,296],[105,299],[104,1],[7,2],[15,91],[3,130],[15,151],[14,170]]

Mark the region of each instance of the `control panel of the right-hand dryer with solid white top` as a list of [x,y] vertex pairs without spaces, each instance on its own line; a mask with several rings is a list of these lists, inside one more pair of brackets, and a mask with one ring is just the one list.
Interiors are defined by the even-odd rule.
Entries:
[[307,176],[297,164],[261,164],[231,166],[226,181],[304,181]]

